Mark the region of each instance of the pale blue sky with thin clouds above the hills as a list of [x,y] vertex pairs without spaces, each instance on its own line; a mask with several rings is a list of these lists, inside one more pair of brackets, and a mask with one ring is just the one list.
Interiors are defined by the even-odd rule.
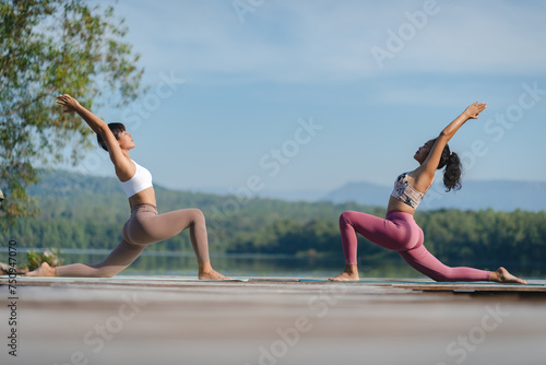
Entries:
[[[546,180],[543,1],[115,7],[151,90],[122,110],[94,111],[126,122],[131,157],[155,184],[224,193],[391,185],[476,101],[488,108],[450,143],[464,178]],[[98,149],[76,169],[112,175]]]

